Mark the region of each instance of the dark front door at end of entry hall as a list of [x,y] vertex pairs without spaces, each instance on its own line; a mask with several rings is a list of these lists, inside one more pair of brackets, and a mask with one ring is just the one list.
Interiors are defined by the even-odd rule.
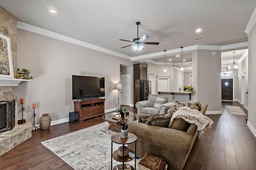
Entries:
[[233,78],[221,79],[222,100],[233,100]]

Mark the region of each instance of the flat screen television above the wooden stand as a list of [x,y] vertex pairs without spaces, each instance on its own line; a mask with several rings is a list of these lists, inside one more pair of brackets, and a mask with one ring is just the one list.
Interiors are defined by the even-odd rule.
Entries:
[[105,97],[105,78],[72,75],[72,100]]

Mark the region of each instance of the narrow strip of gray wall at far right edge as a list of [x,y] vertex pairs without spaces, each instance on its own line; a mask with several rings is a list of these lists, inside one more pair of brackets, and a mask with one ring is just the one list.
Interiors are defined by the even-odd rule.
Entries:
[[256,129],[256,24],[248,35],[248,123]]

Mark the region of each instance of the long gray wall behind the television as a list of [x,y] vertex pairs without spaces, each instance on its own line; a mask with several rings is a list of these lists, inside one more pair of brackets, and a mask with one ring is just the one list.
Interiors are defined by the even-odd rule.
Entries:
[[44,35],[18,29],[18,67],[31,70],[32,82],[18,86],[18,98],[24,98],[25,119],[32,119],[32,103],[36,103],[36,124],[42,113],[50,113],[52,121],[68,118],[74,111],[72,75],[105,77],[105,110],[115,108],[120,82],[120,64],[130,66],[127,59],[109,55]]

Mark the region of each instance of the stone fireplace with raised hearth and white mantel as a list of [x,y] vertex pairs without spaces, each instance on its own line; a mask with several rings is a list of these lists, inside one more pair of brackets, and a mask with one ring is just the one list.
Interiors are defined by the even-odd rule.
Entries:
[[[18,100],[17,87],[21,80],[16,79],[17,76],[17,17],[10,14],[2,6],[0,6],[0,33],[7,35],[11,40],[12,47],[12,65],[14,78],[0,79],[0,100],[1,102],[1,133],[0,133],[0,155],[8,150],[16,147],[29,137],[31,137],[32,125],[24,123],[18,125]],[[11,106],[8,104],[11,103]],[[11,109],[10,109],[11,107]],[[5,112],[11,113],[6,115]],[[10,117],[8,117],[10,116]],[[7,122],[7,120],[11,122]],[[6,127],[5,127],[6,126]],[[8,129],[11,128],[11,129]],[[8,130],[8,131],[4,131]],[[4,132],[2,132],[4,131]]]

